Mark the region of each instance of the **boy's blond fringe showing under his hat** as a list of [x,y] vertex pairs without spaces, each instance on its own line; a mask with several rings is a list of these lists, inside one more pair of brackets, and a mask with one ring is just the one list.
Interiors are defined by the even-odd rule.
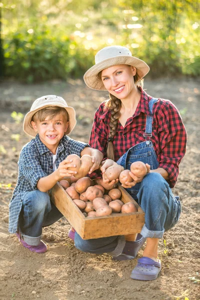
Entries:
[[48,106],[36,111],[33,114],[31,121],[35,122],[38,120],[42,122],[47,116],[50,120],[52,120],[58,114],[61,114],[63,117],[66,118],[66,121],[68,121],[68,113],[66,109],[59,106]]

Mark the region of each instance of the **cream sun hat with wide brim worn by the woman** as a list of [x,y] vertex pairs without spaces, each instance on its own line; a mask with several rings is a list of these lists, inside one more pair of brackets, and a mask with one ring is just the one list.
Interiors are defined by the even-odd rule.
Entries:
[[113,65],[128,64],[136,68],[137,74],[143,78],[149,71],[149,66],[141,59],[132,56],[130,50],[122,46],[108,46],[95,55],[95,65],[84,74],[84,82],[92,89],[106,90],[98,73]]

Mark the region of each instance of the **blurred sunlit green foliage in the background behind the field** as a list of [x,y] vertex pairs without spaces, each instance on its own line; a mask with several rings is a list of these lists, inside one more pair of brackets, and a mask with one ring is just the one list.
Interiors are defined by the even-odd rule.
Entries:
[[0,2],[5,75],[27,82],[82,76],[98,49],[120,44],[149,64],[151,76],[197,76],[198,5],[197,0]]

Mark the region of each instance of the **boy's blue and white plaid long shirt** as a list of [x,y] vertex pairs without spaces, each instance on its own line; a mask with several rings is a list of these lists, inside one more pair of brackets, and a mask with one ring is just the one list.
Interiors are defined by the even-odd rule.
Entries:
[[[63,161],[69,154],[80,152],[89,144],[76,141],[64,135],[57,148],[55,165]],[[21,211],[23,197],[27,192],[37,190],[37,181],[53,172],[53,155],[50,150],[41,142],[39,135],[31,139],[23,146],[18,160],[18,178],[9,203],[9,232],[17,231],[18,217]]]

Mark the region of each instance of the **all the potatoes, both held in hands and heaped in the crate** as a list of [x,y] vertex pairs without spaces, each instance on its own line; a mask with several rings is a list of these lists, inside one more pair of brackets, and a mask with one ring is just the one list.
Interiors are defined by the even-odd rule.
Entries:
[[[76,168],[71,169],[75,169],[77,174],[69,180],[61,180],[59,183],[78,208],[87,216],[104,216],[111,213],[137,211],[137,207],[132,202],[124,204],[120,200],[121,192],[118,188],[104,183],[102,178],[91,180],[89,177],[85,177],[92,165],[89,155],[83,155],[79,158],[77,155],[71,154],[67,156],[67,159],[72,159],[73,163],[76,164]],[[131,163],[130,171],[142,180],[147,173],[147,168],[142,161],[135,161]],[[125,184],[126,181],[133,181],[129,170],[124,170],[116,162],[106,168],[104,179],[109,179],[109,181],[119,179],[122,184]]]

